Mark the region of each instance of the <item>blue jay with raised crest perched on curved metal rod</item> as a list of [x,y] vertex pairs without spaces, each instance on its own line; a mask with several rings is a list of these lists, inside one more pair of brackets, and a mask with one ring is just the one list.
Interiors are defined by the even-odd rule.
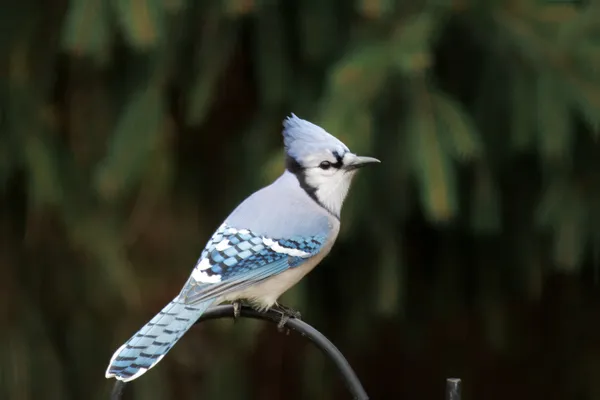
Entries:
[[129,382],[162,360],[211,306],[242,301],[254,309],[295,310],[277,302],[329,254],[351,182],[366,165],[320,126],[291,113],[283,121],[285,169],[242,201],[216,229],[181,292],[119,347],[106,378]]

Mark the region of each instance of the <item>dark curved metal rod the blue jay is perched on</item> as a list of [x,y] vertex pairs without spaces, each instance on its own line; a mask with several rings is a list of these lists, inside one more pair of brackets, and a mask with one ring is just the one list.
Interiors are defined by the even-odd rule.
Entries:
[[[233,306],[231,305],[222,305],[217,307],[212,307],[206,310],[204,314],[196,321],[196,324],[207,321],[211,319],[219,319],[219,318],[233,318]],[[266,312],[256,311],[248,306],[242,306],[240,308],[240,317],[244,318],[252,318],[252,319],[260,319],[263,321],[269,321],[275,324],[278,324],[281,319],[281,314],[268,310]],[[290,318],[285,323],[285,328],[291,329],[300,333],[302,336],[306,336],[315,346],[319,348],[325,354],[327,358],[329,358],[335,366],[337,367],[340,375],[348,388],[348,391],[352,394],[353,399],[355,400],[368,400],[369,396],[367,396],[367,392],[363,388],[360,380],[356,376],[356,373],[344,357],[344,355],[334,346],[333,343],[329,339],[327,339],[321,332],[303,322],[302,320],[296,318]],[[122,381],[117,381],[113,387],[111,399],[120,400],[121,395],[123,394],[123,389],[125,388],[126,383]]]

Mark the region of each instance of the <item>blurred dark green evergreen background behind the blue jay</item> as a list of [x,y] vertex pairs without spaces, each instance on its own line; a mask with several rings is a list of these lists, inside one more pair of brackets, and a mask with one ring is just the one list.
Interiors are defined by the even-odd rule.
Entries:
[[[600,399],[597,3],[2,2],[0,398],[108,398],[294,112],[383,161],[282,299],[373,399]],[[349,397],[303,338],[223,320],[124,398]]]

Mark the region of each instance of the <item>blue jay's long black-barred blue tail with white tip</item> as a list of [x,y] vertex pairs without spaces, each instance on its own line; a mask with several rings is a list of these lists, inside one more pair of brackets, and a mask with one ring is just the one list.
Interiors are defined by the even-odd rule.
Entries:
[[106,377],[129,382],[143,375],[162,360],[213,302],[190,306],[175,298],[115,351]]

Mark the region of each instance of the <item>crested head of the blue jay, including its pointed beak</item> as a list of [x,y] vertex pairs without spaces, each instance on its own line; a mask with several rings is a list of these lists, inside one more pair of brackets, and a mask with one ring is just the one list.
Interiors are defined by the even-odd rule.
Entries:
[[356,171],[380,161],[352,153],[323,128],[294,114],[283,127],[287,170],[309,196],[339,217]]

